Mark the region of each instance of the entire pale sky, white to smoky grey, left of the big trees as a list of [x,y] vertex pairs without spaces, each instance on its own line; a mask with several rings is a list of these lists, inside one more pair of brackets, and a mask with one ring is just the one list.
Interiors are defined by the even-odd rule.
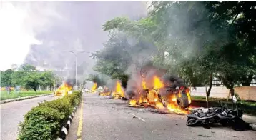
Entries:
[[[41,68],[74,67],[74,55],[93,52],[108,39],[102,25],[117,16],[147,14],[145,1],[1,1],[0,70],[29,63]],[[42,8],[44,7],[44,8]],[[91,69],[88,53],[78,65]],[[84,70],[85,71],[85,70]]]

